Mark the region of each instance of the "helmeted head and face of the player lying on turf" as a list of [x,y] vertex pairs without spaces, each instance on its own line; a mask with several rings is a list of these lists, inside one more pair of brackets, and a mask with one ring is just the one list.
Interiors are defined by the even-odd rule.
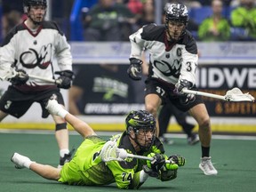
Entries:
[[148,150],[156,138],[155,117],[145,110],[131,111],[125,123],[126,132],[140,146],[140,150]]

